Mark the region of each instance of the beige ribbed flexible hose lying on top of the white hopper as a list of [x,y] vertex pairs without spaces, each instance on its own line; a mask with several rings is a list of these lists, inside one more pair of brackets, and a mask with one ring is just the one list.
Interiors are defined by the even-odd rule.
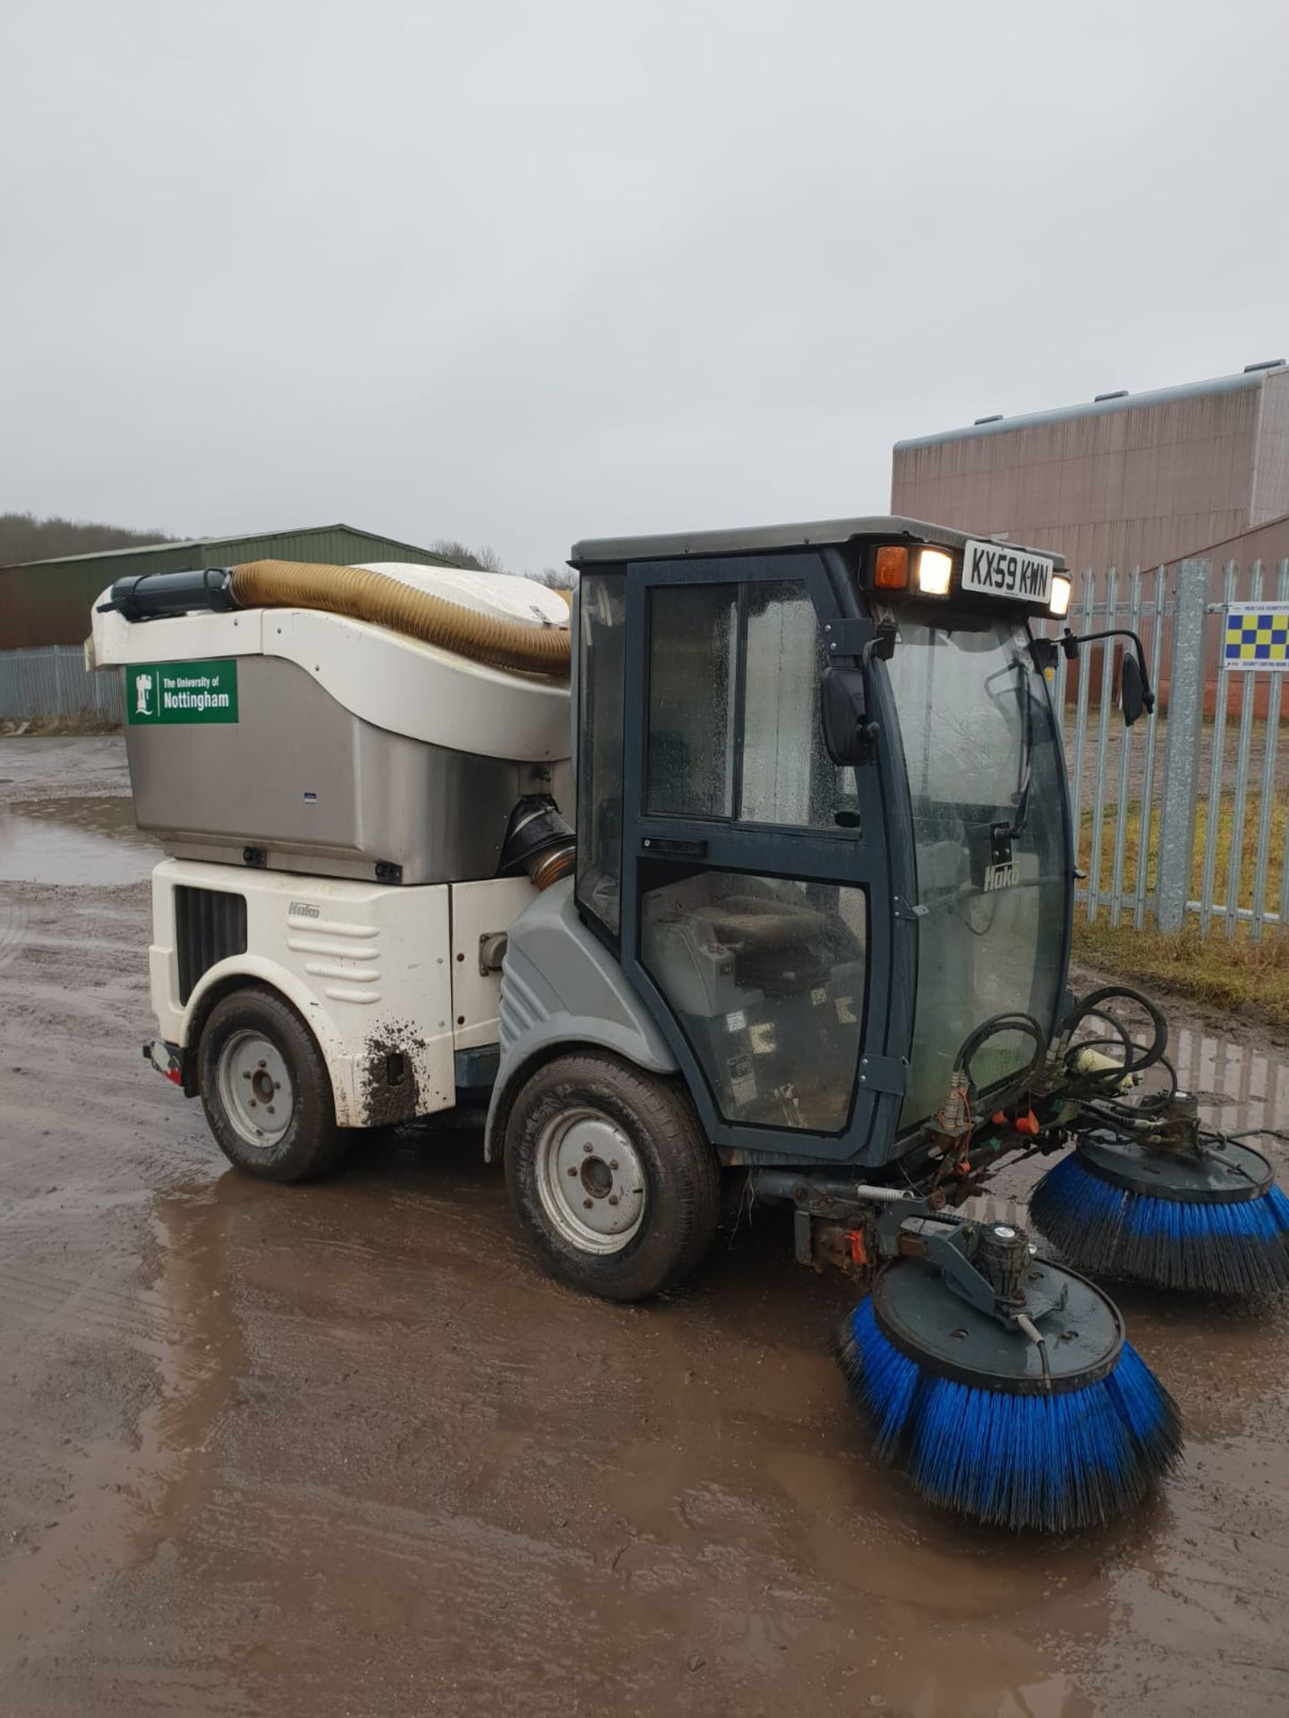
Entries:
[[321,608],[330,615],[371,620],[492,668],[552,679],[569,673],[567,627],[528,627],[476,615],[445,596],[431,596],[366,567],[247,560],[232,569],[232,594],[239,608]]

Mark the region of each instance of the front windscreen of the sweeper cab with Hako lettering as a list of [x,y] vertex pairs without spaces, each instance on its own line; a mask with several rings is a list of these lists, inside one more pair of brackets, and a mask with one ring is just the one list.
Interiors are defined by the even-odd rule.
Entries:
[[[887,663],[918,862],[918,1002],[901,1130],[932,1117],[968,1033],[1011,1010],[1054,1024],[1071,878],[1059,734],[1026,629],[899,617]],[[1002,849],[1011,862],[1000,862]],[[978,1086],[1024,1065],[1019,1033],[976,1055]]]

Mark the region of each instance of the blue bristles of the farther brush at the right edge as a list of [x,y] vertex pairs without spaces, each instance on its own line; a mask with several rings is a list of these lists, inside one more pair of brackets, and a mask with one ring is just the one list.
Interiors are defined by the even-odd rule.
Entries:
[[1093,1175],[1071,1151],[1035,1189],[1029,1215],[1090,1276],[1231,1295],[1289,1288],[1289,1199],[1279,1187],[1237,1204],[1152,1199]]

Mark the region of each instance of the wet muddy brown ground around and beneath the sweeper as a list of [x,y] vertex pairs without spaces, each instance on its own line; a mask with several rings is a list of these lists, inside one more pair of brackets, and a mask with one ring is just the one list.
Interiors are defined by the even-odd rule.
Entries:
[[[1112,1532],[937,1517],[775,1221],[612,1307],[467,1134],[225,1170],[139,1058],[125,790],[115,739],[0,740],[0,1715],[1289,1711],[1289,1311],[1121,1294],[1189,1441]],[[1188,1026],[1212,1089],[1289,1096]]]

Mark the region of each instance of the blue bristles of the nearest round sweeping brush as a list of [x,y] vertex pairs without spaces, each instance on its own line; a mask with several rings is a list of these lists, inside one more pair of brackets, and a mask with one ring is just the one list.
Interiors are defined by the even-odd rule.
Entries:
[[840,1361],[877,1453],[932,1503],[990,1526],[1102,1526],[1138,1503],[1181,1453],[1177,1405],[1127,1343],[1107,1378],[1079,1390],[976,1388],[901,1354],[870,1297],[847,1319]]

